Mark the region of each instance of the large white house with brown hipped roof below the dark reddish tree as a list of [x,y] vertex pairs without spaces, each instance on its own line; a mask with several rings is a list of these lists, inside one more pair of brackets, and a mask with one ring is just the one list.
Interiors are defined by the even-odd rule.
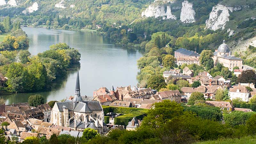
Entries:
[[230,88],[228,94],[230,96],[230,100],[240,98],[245,102],[249,101],[250,92],[246,89],[245,86],[242,86],[240,84],[238,86]]

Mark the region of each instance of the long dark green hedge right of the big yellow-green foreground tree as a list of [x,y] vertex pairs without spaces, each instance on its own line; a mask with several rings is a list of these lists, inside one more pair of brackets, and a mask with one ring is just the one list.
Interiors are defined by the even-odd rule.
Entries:
[[209,119],[213,121],[220,121],[222,118],[222,113],[220,108],[215,107],[199,107],[199,106],[183,106],[184,111],[191,111],[196,113],[197,116],[202,119]]

